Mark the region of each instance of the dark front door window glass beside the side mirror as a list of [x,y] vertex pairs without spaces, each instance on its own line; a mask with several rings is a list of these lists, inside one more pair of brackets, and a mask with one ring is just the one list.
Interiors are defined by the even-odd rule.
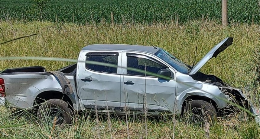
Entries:
[[155,62],[154,59],[144,57],[141,55],[128,55],[127,56],[127,74],[139,75],[139,76],[153,76],[160,69],[166,69],[167,67]]

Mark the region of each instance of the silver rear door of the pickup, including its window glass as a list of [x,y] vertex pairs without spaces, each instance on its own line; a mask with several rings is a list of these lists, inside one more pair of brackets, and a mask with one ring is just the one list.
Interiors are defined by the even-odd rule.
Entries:
[[[78,65],[79,96],[86,109],[120,107],[121,51],[82,52]],[[105,107],[104,107],[105,106]]]

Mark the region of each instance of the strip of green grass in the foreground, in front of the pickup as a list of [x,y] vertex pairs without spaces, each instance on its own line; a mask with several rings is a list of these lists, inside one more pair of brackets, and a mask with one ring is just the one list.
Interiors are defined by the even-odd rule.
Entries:
[[[98,124],[94,116],[85,113],[76,115],[71,126],[65,128],[42,125],[37,119],[26,112],[11,115],[9,109],[1,108],[1,122],[6,126],[0,128],[0,138],[172,138],[180,139],[206,139],[205,129],[198,125],[186,124],[184,119],[177,118],[176,125],[171,119],[148,118],[147,135],[145,134],[145,121],[141,118],[133,120],[128,117],[128,130],[125,117],[112,117],[110,124],[107,115],[99,116]],[[231,120],[232,119],[232,123]],[[7,127],[7,125],[11,125]],[[109,125],[111,128],[109,128]],[[12,127],[14,126],[14,127]],[[97,129],[99,127],[99,129]],[[111,130],[110,130],[111,129]],[[238,121],[235,118],[219,119],[218,124],[209,128],[212,139],[259,139],[259,125],[254,121]]]

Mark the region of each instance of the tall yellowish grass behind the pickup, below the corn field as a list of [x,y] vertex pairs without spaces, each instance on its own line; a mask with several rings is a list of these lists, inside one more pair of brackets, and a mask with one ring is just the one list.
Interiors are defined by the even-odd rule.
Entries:
[[[258,25],[232,24],[223,29],[214,21],[191,21],[188,24],[152,24],[152,25],[116,25],[92,24],[77,26],[74,24],[54,24],[48,22],[0,22],[0,42],[28,34],[32,36],[3,44],[0,56],[42,56],[77,59],[80,50],[89,44],[120,43],[159,46],[174,54],[185,63],[192,65],[197,46],[198,62],[206,53],[224,38],[234,37],[232,46],[220,54],[220,58],[211,59],[202,71],[216,74],[224,81],[245,87],[251,80],[251,64],[258,45]],[[68,65],[66,62],[50,61],[2,61],[0,69],[21,66],[42,65],[54,70]]]

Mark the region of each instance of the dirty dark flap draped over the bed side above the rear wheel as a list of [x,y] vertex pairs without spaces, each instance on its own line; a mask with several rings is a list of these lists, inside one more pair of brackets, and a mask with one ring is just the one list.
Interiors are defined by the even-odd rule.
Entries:
[[54,77],[59,82],[62,92],[67,95],[73,94],[72,86],[70,84],[70,81],[65,77],[65,75],[62,72],[59,71],[49,71],[51,74],[54,75]]

